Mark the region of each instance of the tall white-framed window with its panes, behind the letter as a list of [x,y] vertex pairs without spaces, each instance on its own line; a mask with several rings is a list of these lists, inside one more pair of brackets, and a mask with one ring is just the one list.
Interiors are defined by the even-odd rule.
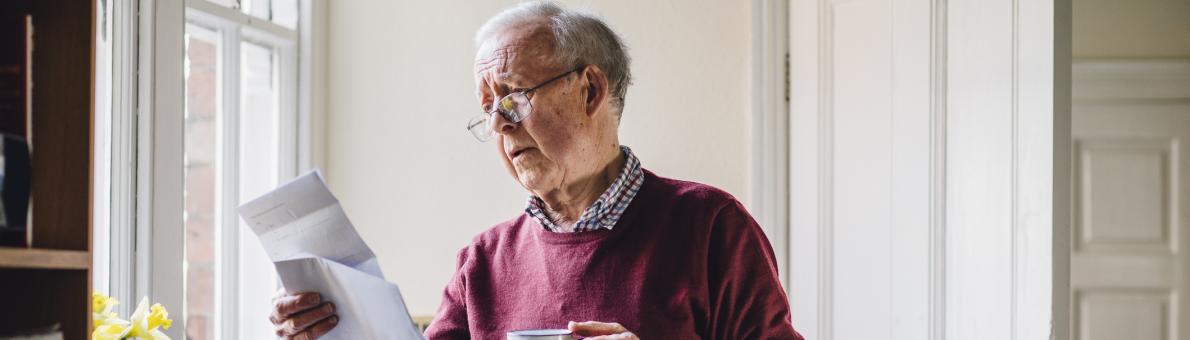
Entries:
[[224,2],[186,13],[183,291],[198,340],[271,336],[238,322],[263,320],[277,285],[236,207],[292,177],[296,159],[296,0]]

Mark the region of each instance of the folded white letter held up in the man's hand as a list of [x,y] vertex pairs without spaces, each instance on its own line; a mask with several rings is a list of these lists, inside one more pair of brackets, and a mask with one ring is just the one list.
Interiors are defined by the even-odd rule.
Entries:
[[339,325],[322,339],[424,339],[401,290],[315,170],[238,208],[288,292],[317,291]]

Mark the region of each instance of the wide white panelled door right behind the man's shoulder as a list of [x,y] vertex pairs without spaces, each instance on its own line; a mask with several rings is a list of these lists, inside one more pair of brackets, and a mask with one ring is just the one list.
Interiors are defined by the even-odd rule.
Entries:
[[[793,321],[816,340],[1051,339],[1069,1],[790,1]],[[1065,6],[1065,7],[1063,7]],[[1019,32],[1019,34],[1017,34]],[[1060,44],[1059,44],[1060,45]],[[1059,58],[1056,58],[1059,57]],[[1056,162],[1059,159],[1061,162]],[[1058,221],[1054,223],[1054,221]],[[1063,303],[1064,306],[1064,303]],[[1057,309],[1064,314],[1065,308]],[[1066,340],[1058,335],[1057,339]]]

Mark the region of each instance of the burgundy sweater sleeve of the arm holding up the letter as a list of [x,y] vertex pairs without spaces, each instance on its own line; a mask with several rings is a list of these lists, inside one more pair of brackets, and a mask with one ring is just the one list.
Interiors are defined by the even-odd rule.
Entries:
[[466,320],[466,271],[471,246],[458,251],[455,275],[443,290],[443,302],[434,320],[426,328],[426,339],[471,339]]

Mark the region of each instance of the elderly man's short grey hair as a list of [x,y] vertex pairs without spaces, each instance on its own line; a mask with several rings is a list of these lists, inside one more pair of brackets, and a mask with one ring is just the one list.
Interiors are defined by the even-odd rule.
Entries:
[[478,48],[495,34],[538,20],[550,23],[558,64],[568,68],[594,64],[603,70],[612,102],[618,114],[622,114],[624,95],[632,84],[627,46],[612,27],[590,13],[566,10],[551,1],[521,2],[488,19],[475,34],[475,45]]

